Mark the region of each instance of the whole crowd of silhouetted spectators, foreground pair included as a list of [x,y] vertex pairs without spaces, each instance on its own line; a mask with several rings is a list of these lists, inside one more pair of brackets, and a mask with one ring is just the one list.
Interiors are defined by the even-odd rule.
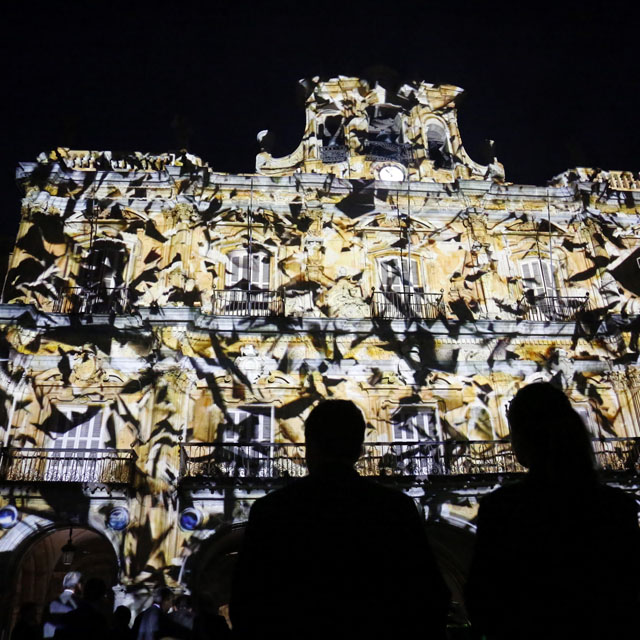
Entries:
[[[521,389],[508,419],[528,468],[480,504],[465,593],[469,636],[488,640],[636,637],[640,529],[635,500],[599,481],[580,416],[547,383]],[[447,637],[450,593],[411,498],[354,470],[366,424],[327,400],[305,423],[309,475],[256,501],[232,585],[233,637]],[[160,587],[131,624],[104,611],[106,586],[76,572],[12,640],[229,637],[212,607]]]

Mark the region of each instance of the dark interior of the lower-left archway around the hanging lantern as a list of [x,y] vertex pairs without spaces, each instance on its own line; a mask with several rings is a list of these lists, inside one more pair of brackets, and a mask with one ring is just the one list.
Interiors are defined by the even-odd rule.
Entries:
[[16,550],[8,628],[13,627],[26,602],[35,602],[42,616],[47,604],[62,592],[62,580],[69,571],[79,571],[84,580],[101,578],[107,585],[107,597],[111,597],[110,587],[118,581],[118,558],[112,544],[92,529],[74,527],[71,543],[75,551],[71,563],[64,564],[62,547],[69,541],[69,532],[69,528],[47,531],[26,540]]

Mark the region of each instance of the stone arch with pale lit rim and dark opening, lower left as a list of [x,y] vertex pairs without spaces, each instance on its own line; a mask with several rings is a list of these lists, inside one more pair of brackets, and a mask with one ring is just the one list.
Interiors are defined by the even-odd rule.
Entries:
[[107,597],[111,596],[111,587],[118,584],[121,572],[113,540],[89,525],[73,525],[71,541],[76,552],[72,564],[66,566],[61,549],[69,540],[69,531],[68,524],[27,516],[1,540],[0,565],[6,578],[0,593],[0,628],[11,629],[25,602],[35,602],[42,615],[62,591],[68,571],[80,571],[85,579],[103,579]]

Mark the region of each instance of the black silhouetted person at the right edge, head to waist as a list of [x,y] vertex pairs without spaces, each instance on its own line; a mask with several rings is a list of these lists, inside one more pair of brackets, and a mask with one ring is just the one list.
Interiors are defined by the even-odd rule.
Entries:
[[637,638],[635,500],[598,481],[586,427],[559,389],[523,387],[508,419],[529,472],[480,503],[466,589],[477,636]]

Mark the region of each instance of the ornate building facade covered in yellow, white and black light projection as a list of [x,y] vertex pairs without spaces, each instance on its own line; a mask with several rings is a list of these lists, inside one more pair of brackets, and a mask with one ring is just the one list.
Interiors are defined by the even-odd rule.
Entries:
[[458,623],[478,499],[522,472],[520,386],[562,385],[607,481],[638,492],[640,176],[511,184],[466,154],[457,87],[305,87],[299,147],[274,158],[262,132],[254,174],[187,152],[20,163],[5,627],[71,568],[136,610],[158,584],[224,605],[251,503],[305,473],[322,398],[362,409],[361,473],[423,509]]

